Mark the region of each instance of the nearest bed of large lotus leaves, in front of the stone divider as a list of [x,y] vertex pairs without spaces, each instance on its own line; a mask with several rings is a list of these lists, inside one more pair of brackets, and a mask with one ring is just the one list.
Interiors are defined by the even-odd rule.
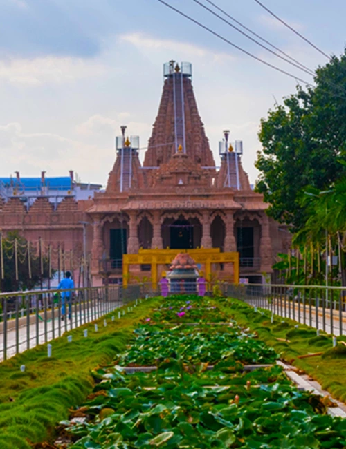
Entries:
[[[291,386],[278,367],[233,378],[110,370],[104,394],[85,406],[97,418],[70,428],[79,438],[72,448],[320,448],[329,440],[336,449],[346,437],[343,421],[316,414],[324,405]],[[113,414],[102,418],[104,408]]]

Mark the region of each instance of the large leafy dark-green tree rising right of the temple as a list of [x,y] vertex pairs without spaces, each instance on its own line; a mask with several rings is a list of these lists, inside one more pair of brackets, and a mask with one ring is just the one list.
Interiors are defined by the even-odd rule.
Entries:
[[346,154],[346,52],[318,68],[315,82],[269,111],[259,134],[256,190],[269,203],[268,215],[292,231],[309,219],[302,202],[307,186],[327,190],[346,173],[338,164]]

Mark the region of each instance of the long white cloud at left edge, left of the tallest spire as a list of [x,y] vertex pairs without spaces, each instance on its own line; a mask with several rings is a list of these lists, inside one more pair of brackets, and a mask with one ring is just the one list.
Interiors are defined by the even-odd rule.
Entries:
[[0,80],[32,86],[98,77],[105,71],[105,66],[94,59],[47,56],[0,61]]

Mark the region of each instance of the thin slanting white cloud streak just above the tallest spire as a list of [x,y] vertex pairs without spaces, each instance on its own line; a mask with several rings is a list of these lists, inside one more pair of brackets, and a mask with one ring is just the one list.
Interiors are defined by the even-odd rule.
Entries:
[[191,57],[191,55],[194,55],[194,57],[201,58],[211,57],[213,60],[235,59],[233,56],[228,55],[228,53],[214,52],[206,47],[187,44],[181,41],[157,39],[156,37],[151,37],[141,32],[122,34],[118,39],[135,46],[138,50],[143,52],[147,52],[147,50],[163,50],[165,53],[174,52],[184,57]]

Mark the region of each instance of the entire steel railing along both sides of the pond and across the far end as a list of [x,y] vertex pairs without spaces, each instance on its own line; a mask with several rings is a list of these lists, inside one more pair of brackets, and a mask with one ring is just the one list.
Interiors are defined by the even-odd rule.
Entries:
[[[71,292],[70,298],[62,297],[63,292]],[[48,343],[130,301],[161,294],[221,294],[328,334],[346,334],[346,287],[177,281],[157,288],[152,283],[138,283],[127,288],[109,285],[71,291],[11,292],[0,294],[0,361]]]

